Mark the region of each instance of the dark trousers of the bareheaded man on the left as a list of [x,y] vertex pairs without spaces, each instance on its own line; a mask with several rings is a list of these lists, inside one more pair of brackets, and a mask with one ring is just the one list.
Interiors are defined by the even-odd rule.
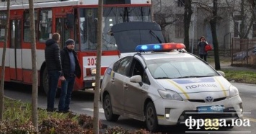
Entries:
[[58,88],[58,79],[61,76],[61,72],[59,71],[48,71],[48,84],[49,91],[47,96],[47,110],[54,110],[54,101],[56,97],[56,91]]

